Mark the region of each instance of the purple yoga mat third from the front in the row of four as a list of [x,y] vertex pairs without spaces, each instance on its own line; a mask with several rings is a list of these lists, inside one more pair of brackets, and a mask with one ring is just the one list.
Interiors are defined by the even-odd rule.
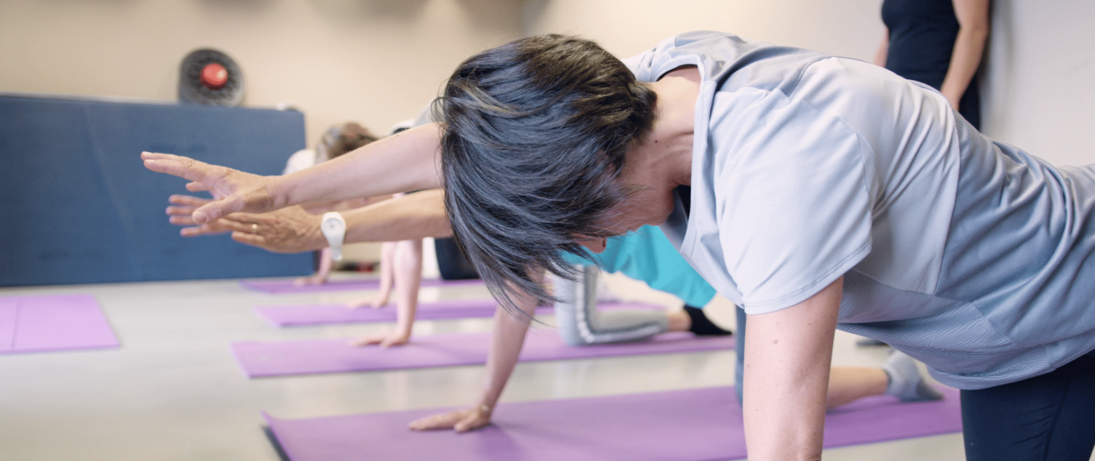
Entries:
[[[419,303],[415,318],[418,320],[470,319],[494,316],[498,303],[492,299],[446,299],[433,303]],[[601,303],[599,309],[659,309],[645,303]],[[552,308],[544,306],[537,314],[551,314]],[[255,308],[255,314],[275,327],[296,327],[331,323],[368,323],[395,321],[395,306],[384,306],[378,309],[361,307],[350,309],[343,304],[313,304],[303,306],[262,306]]]

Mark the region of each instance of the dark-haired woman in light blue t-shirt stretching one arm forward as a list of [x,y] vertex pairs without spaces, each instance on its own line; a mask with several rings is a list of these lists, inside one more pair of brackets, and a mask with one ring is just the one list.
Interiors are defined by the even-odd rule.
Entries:
[[550,298],[539,274],[570,272],[561,250],[660,225],[751,316],[750,458],[820,459],[835,328],[961,389],[968,459],[1091,457],[1095,165],[995,142],[876,66],[716,32],[624,61],[520,38],[461,63],[438,108],[437,125],[288,176],[142,156],[223,197],[198,223],[443,187],[509,307]]

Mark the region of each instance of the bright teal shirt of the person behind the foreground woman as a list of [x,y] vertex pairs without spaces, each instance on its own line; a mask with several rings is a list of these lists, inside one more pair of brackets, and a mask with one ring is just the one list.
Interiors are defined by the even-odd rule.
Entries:
[[693,307],[703,307],[715,297],[715,288],[677,252],[661,229],[643,226],[626,235],[612,237],[601,253],[586,251],[592,259],[564,252],[572,264],[592,265],[608,272],[623,272],[646,282],[654,289],[669,293]]

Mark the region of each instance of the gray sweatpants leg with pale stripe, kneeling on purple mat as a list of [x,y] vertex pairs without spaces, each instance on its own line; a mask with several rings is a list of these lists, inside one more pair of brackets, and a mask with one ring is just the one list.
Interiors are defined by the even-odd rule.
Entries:
[[597,281],[601,271],[592,265],[578,269],[580,272],[575,281],[553,276],[558,298],[555,322],[567,344],[638,341],[669,331],[669,318],[660,309],[597,310]]

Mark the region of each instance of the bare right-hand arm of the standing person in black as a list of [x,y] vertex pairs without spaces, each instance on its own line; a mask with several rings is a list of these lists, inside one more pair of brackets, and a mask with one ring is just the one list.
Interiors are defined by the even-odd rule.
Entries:
[[953,0],[958,17],[958,37],[950,55],[950,67],[943,79],[943,93],[950,106],[958,109],[961,95],[977,73],[989,37],[989,0]]

